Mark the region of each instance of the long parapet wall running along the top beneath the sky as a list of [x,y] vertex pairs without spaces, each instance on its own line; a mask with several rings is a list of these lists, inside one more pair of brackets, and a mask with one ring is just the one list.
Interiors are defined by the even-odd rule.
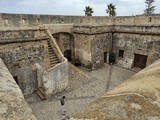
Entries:
[[0,27],[33,26],[40,24],[86,24],[86,25],[159,25],[160,15],[137,16],[62,16],[38,14],[0,14]]

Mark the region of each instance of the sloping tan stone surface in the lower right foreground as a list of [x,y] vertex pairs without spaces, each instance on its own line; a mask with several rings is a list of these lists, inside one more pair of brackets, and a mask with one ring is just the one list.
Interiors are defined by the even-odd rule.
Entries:
[[92,102],[75,118],[160,119],[160,60]]

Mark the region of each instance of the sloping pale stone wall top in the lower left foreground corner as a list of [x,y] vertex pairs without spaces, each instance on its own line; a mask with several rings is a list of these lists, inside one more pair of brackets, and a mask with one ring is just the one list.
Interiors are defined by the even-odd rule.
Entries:
[[36,120],[21,90],[0,59],[0,119]]

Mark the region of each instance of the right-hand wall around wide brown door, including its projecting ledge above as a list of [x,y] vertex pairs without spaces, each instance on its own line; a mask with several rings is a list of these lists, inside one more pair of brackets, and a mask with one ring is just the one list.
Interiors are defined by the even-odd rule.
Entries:
[[[134,54],[147,56],[147,63],[153,63],[160,58],[160,39],[158,26],[116,26],[114,52],[118,65],[132,68]],[[124,56],[118,57],[119,50],[124,50]]]

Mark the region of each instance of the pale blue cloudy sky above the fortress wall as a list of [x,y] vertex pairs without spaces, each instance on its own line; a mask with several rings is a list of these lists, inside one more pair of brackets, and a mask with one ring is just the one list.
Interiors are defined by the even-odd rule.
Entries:
[[[118,16],[143,14],[145,0],[0,0],[0,13],[82,15],[85,6],[93,8],[93,16],[108,16],[107,4],[116,5]],[[155,13],[160,13],[160,0],[155,0]]]

